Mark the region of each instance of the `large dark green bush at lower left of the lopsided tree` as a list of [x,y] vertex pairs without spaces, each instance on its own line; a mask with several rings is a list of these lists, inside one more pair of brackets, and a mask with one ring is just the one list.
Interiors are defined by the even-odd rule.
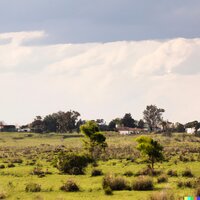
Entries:
[[66,174],[84,174],[85,168],[91,162],[91,158],[84,154],[60,153],[57,158],[56,167]]

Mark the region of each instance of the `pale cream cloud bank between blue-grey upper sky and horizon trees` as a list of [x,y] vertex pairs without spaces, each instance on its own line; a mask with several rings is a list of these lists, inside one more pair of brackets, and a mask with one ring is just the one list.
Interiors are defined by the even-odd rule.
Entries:
[[139,119],[147,104],[171,121],[199,120],[199,38],[26,44],[46,35],[0,34],[1,120],[22,124],[69,109],[86,119]]

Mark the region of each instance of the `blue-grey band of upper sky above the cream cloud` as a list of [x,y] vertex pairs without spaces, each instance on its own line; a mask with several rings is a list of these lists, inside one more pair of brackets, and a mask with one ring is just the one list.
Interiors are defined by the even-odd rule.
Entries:
[[194,38],[199,0],[1,0],[0,32],[45,30],[46,43]]

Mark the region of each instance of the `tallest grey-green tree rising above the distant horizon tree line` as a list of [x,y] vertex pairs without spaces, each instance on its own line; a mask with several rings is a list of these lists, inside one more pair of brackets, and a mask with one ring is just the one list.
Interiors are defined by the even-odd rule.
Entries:
[[149,126],[150,131],[154,131],[158,125],[163,121],[162,113],[165,112],[162,108],[157,108],[155,105],[149,105],[144,110],[144,120]]

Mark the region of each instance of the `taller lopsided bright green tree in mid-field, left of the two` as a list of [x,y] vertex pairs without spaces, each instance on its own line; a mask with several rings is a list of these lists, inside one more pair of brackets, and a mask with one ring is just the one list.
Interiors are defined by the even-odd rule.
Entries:
[[107,146],[106,137],[99,132],[99,127],[95,121],[87,121],[80,127],[81,133],[85,135],[84,145],[91,158],[95,161],[96,157]]

